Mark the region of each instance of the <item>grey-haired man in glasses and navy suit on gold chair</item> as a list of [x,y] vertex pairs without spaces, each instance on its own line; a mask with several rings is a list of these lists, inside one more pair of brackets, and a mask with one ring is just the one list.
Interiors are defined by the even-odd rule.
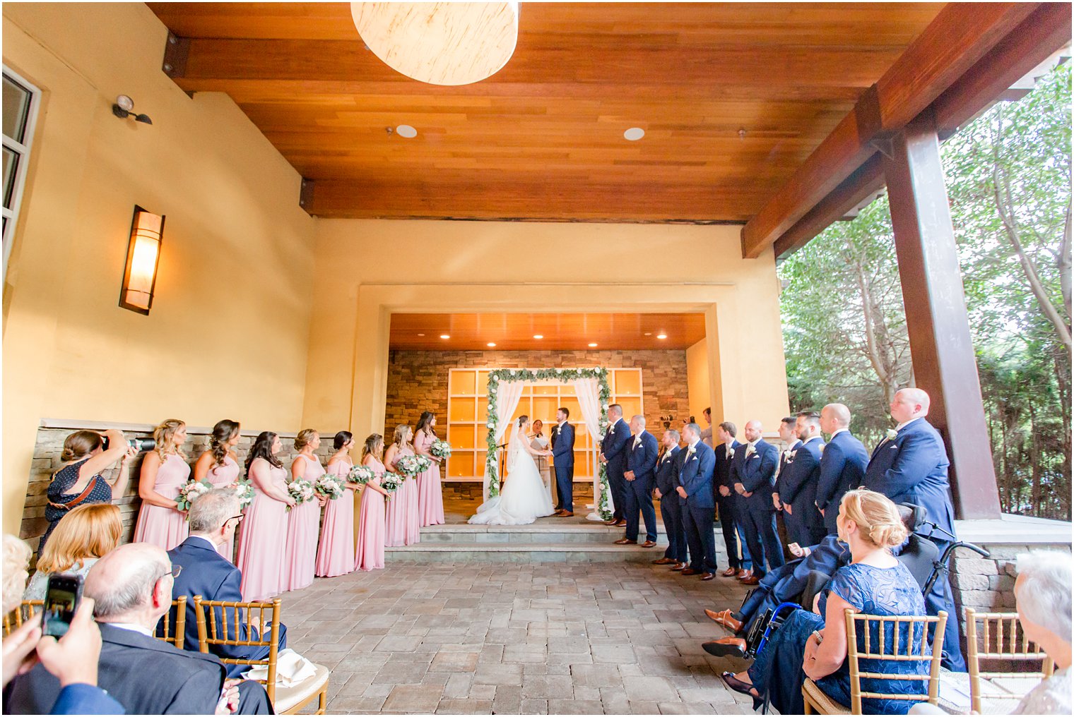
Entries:
[[[348,496],[349,498],[349,496]],[[198,613],[194,611],[194,596],[204,600],[242,602],[243,573],[220,555],[219,547],[229,545],[235,528],[243,520],[238,509],[238,498],[230,488],[218,488],[206,493],[190,507],[190,537],[168,552],[173,566],[182,568],[172,588],[173,599],[187,596],[186,638],[183,648],[198,652]],[[217,609],[217,625],[222,619]],[[229,613],[230,617],[230,613]],[[171,624],[175,625],[175,609],[170,611]],[[207,617],[206,617],[207,619]],[[158,633],[161,625],[158,628]],[[238,626],[243,640],[247,639],[246,623]],[[228,623],[228,638],[235,636],[235,625]],[[255,634],[252,640],[258,640]],[[280,625],[279,648],[287,647],[287,626]],[[211,653],[220,658],[263,660],[268,657],[268,647],[259,645],[209,645]],[[250,669],[248,664],[228,664],[228,675],[237,677]]]

